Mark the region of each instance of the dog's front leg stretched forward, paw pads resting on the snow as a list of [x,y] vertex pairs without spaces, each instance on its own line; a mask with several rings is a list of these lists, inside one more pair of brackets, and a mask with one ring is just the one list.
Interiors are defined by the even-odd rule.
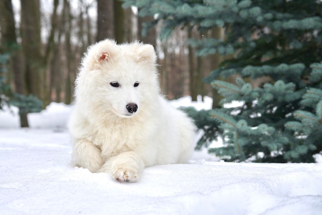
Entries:
[[111,157],[98,172],[109,172],[119,182],[135,182],[143,168],[141,157],[130,151]]

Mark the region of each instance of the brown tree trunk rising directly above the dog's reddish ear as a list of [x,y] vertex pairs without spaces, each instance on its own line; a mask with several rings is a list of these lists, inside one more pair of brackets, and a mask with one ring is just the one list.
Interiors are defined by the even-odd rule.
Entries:
[[96,41],[114,38],[114,0],[97,0]]

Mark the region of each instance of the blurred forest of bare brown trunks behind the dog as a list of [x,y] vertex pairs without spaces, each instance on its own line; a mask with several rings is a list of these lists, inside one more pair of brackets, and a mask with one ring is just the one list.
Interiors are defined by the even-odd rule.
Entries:
[[[160,41],[156,26],[142,37],[142,23],[153,17],[139,17],[137,12],[134,7],[122,8],[117,0],[1,0],[0,51],[12,53],[7,78],[13,91],[37,96],[44,106],[51,101],[69,104],[86,48],[112,38],[117,43],[139,40],[156,48],[160,85],[168,99],[211,96],[211,87],[201,79],[218,65],[213,56],[194,56],[194,49],[187,46],[187,29],[177,29]],[[196,30],[190,33],[202,37]]]

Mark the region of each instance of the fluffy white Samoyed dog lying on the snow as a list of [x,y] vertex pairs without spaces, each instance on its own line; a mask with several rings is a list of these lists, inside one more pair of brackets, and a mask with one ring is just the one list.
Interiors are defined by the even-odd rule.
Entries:
[[152,45],[90,46],[76,79],[68,128],[75,166],[135,182],[145,167],[186,163],[195,126],[160,94]]

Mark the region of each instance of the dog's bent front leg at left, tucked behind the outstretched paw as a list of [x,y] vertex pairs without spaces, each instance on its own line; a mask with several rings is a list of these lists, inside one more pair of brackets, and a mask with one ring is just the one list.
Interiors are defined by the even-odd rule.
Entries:
[[91,172],[96,172],[103,166],[101,150],[85,139],[75,141],[72,159],[75,166],[86,168]]

